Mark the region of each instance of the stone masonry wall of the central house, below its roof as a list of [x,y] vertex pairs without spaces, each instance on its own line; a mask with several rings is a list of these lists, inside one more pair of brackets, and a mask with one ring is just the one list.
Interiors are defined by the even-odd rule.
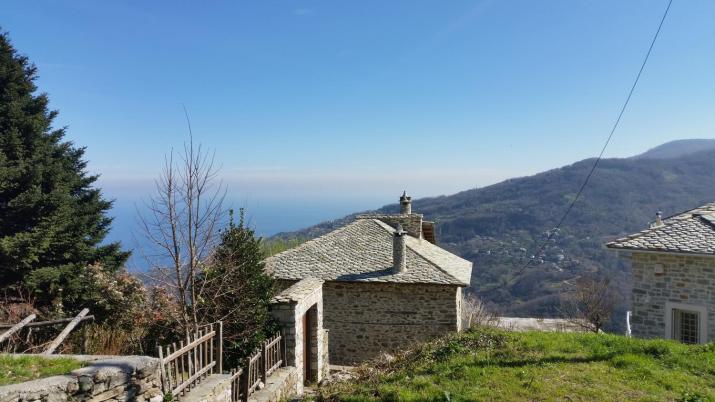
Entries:
[[458,286],[326,282],[330,363],[351,365],[460,330],[460,296]]

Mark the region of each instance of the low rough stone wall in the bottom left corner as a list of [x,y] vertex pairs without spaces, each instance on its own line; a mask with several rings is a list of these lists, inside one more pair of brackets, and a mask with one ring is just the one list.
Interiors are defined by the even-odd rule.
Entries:
[[[26,355],[23,355],[26,356]],[[70,374],[0,387],[0,402],[161,402],[159,360],[146,356],[58,356],[89,362]]]

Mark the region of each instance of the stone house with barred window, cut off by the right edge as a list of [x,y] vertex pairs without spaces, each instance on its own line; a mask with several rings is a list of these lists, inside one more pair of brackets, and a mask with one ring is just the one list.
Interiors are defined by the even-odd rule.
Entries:
[[606,246],[631,261],[633,336],[715,341],[715,203]]

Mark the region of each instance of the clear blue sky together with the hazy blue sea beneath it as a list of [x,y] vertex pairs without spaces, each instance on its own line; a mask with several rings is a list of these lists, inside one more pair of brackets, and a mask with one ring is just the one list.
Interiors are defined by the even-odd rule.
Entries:
[[[187,131],[259,232],[595,156],[666,1],[19,1],[0,26],[133,205]],[[675,0],[607,156],[715,132],[715,2]]]

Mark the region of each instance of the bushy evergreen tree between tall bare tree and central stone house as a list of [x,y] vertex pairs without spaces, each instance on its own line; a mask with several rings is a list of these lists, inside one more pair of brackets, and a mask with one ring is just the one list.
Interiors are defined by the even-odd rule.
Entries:
[[238,365],[277,330],[269,313],[274,283],[263,258],[261,240],[245,226],[243,209],[238,225],[231,211],[229,226],[197,284],[204,289],[199,301],[204,321],[223,321],[228,367]]

